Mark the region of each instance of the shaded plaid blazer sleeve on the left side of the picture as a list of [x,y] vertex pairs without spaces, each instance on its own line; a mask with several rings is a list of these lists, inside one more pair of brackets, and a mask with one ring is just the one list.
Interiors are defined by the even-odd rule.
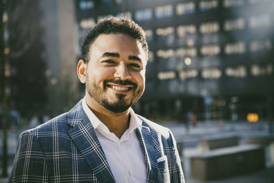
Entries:
[[25,131],[18,139],[9,182],[49,182],[45,154],[38,138]]

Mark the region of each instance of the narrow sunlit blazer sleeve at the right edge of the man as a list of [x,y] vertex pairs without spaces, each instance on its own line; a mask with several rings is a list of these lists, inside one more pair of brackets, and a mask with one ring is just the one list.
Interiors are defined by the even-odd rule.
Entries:
[[175,141],[175,138],[170,130],[169,130],[169,134],[171,136],[171,141],[172,141],[172,145],[173,145],[173,149],[174,149],[173,158],[171,159],[171,167],[169,168],[171,182],[185,183],[184,173],[183,173],[183,169],[182,169],[181,160],[179,158],[176,141]]

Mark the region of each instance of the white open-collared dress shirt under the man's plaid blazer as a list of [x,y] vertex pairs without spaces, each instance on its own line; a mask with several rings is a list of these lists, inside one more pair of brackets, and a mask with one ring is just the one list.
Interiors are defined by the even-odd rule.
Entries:
[[88,119],[95,128],[95,134],[103,148],[116,182],[146,182],[147,166],[145,156],[136,133],[136,127],[141,125],[142,121],[134,111],[130,110],[129,128],[119,139],[88,108],[86,97],[82,99],[82,105]]

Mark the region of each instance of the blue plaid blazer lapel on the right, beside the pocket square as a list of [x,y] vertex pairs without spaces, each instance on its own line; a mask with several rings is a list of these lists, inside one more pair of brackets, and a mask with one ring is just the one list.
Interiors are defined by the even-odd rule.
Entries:
[[[143,123],[144,121],[142,121],[142,124]],[[147,182],[158,182],[158,162],[149,127],[142,125],[142,127],[137,127],[136,131],[145,154],[145,162],[147,164]]]

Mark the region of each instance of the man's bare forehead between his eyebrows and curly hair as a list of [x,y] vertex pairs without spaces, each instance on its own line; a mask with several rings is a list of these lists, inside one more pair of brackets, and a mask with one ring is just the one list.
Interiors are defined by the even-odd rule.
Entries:
[[139,56],[145,60],[145,51],[140,42],[127,34],[100,34],[90,45],[90,54],[95,56],[105,52]]

